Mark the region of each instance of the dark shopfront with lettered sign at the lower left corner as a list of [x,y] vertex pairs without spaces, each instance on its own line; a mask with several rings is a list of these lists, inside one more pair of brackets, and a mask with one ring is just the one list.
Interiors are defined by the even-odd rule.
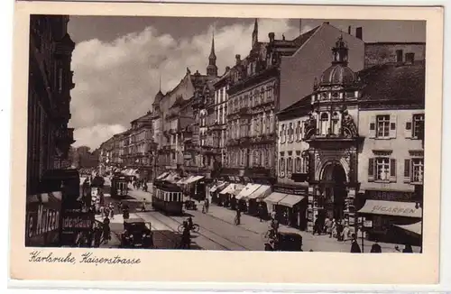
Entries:
[[25,246],[60,246],[61,198],[60,191],[27,197]]

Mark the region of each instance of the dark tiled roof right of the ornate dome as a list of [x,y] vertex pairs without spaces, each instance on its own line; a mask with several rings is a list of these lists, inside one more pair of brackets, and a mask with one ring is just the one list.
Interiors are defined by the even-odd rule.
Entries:
[[361,101],[396,101],[397,105],[425,103],[425,63],[384,64],[359,73],[363,83]]

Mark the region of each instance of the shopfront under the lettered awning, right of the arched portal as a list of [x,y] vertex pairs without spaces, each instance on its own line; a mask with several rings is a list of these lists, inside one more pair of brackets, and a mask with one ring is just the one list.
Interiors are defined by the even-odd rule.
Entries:
[[402,228],[419,226],[422,208],[418,203],[368,199],[358,214],[364,220],[371,221],[371,227],[366,228],[370,240],[419,245],[418,237],[400,234]]

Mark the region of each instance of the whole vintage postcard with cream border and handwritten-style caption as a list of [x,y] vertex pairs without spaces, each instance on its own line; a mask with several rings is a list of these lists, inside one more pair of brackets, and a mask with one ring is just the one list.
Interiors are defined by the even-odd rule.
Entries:
[[441,8],[15,7],[12,279],[438,282]]

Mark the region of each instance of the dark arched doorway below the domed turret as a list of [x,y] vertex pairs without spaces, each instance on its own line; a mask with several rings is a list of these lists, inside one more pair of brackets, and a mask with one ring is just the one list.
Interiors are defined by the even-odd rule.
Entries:
[[346,173],[339,162],[328,163],[323,170],[324,208],[329,218],[343,219],[345,211]]

